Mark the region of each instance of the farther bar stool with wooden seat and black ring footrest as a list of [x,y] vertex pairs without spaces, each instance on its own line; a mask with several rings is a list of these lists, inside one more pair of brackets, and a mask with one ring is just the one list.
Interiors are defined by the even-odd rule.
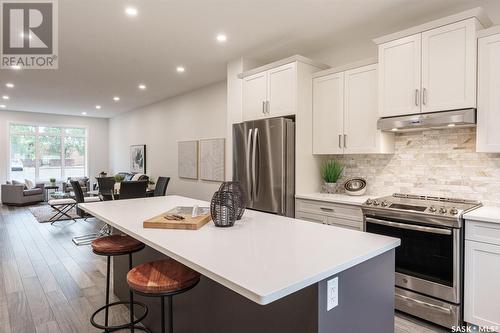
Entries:
[[[146,318],[148,314],[148,308],[145,304],[141,302],[134,302],[134,295],[130,292],[130,300],[129,301],[119,301],[109,303],[109,279],[110,279],[110,269],[111,269],[111,257],[121,256],[128,254],[129,257],[129,269],[132,269],[132,253],[138,252],[144,249],[145,245],[138,240],[126,236],[126,235],[111,235],[106,237],[97,238],[92,241],[92,251],[95,254],[106,256],[107,257],[107,268],[106,268],[106,305],[100,307],[95,311],[90,317],[90,322],[94,327],[103,329],[104,332],[112,332],[124,328],[130,328],[131,332],[134,332],[135,329],[150,332],[147,328],[138,326],[137,324]],[[109,309],[113,306],[126,304],[130,306],[130,322],[122,325],[110,326],[108,325],[108,317],[109,317]],[[144,309],[144,314],[134,320],[134,306],[138,305]],[[104,325],[98,324],[95,321],[95,317],[101,311],[105,311],[104,313]]]

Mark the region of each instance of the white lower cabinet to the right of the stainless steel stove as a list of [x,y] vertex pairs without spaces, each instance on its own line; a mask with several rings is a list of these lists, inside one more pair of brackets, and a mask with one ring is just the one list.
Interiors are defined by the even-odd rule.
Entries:
[[464,320],[478,326],[497,327],[498,330],[500,224],[467,221],[465,227]]

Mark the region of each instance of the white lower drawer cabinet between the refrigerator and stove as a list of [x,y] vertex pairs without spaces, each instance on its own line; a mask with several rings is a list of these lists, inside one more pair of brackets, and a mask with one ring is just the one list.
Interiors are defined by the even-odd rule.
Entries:
[[295,218],[353,230],[363,230],[361,208],[324,201],[297,199]]

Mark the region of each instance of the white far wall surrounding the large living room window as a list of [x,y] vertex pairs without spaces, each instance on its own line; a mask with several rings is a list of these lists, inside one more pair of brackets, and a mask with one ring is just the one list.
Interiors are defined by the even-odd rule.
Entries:
[[10,122],[87,127],[88,176],[94,180],[99,172],[108,169],[108,119],[2,110],[0,111],[0,183],[2,184],[9,177]]

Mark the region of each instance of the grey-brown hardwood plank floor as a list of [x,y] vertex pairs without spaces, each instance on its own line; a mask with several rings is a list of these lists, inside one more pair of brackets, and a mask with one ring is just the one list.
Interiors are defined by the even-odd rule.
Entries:
[[[104,304],[106,261],[71,241],[100,225],[89,219],[51,226],[27,208],[0,205],[0,333],[100,332],[89,318]],[[127,319],[125,306],[110,312],[111,323]],[[397,314],[395,332],[447,331]]]

